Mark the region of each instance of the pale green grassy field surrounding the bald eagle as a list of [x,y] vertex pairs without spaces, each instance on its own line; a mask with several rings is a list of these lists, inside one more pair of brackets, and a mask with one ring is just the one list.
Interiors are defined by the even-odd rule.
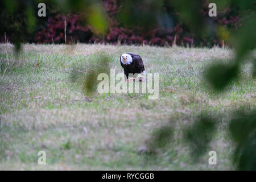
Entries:
[[[255,108],[252,65],[244,65],[240,80],[219,95],[203,80],[209,63],[232,59],[230,49],[25,44],[17,56],[11,44],[0,44],[0,51],[0,170],[235,169],[227,121],[233,110]],[[141,55],[147,73],[159,73],[158,100],[146,94],[85,97],[74,72],[86,74],[102,54],[109,68],[123,72],[119,56],[126,52]],[[217,165],[208,164],[208,152],[193,163],[182,139],[201,113],[222,115],[209,147]],[[170,123],[174,141],[148,157],[152,133]],[[40,150],[46,165],[38,164]]]

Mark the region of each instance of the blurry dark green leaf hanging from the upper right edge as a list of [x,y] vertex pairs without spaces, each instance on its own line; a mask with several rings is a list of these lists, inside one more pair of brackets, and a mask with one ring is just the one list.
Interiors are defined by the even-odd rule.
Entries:
[[[237,78],[245,56],[248,55],[256,46],[256,15],[255,9],[251,10],[251,7],[255,7],[255,1],[230,1],[230,3],[236,3],[243,12],[242,26],[240,30],[233,32],[232,44],[236,57],[231,63],[213,64],[211,67],[205,70],[205,78],[210,82],[214,89],[222,91],[228,86],[230,81]],[[251,10],[251,11],[250,11]],[[246,12],[246,13],[244,13]],[[255,59],[251,62],[255,64]],[[253,71],[254,72],[254,71]]]

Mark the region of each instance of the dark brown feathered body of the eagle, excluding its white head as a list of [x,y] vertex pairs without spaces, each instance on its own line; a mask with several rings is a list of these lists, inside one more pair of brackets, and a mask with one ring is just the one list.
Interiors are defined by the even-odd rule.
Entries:
[[129,77],[129,73],[142,73],[144,69],[143,61],[141,59],[141,56],[135,55],[134,53],[127,53],[128,55],[131,55],[133,57],[133,62],[131,64],[122,64],[121,56],[120,56],[120,63],[125,71],[126,78]]

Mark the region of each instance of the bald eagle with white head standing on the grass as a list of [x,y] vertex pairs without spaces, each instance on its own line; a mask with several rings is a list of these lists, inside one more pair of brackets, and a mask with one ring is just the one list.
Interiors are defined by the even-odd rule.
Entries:
[[127,79],[129,77],[129,73],[140,73],[146,75],[143,61],[139,55],[135,55],[134,53],[123,53],[120,56],[120,63],[125,71],[125,76]]

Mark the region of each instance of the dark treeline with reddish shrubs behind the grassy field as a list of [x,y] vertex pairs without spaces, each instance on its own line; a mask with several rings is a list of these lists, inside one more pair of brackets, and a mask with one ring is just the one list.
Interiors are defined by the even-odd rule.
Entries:
[[[40,2],[46,4],[46,17],[38,16]],[[238,1],[216,1],[217,16],[209,17],[209,3],[205,0],[2,1],[0,40],[208,47],[230,44],[230,32],[242,24],[242,5]]]

